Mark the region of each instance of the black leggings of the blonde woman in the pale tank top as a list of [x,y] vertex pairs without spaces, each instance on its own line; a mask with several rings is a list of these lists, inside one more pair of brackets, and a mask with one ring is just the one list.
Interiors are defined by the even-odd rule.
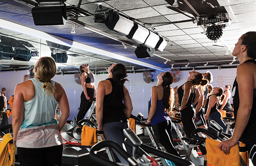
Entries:
[[63,146],[45,148],[18,147],[18,161],[20,166],[62,166]]

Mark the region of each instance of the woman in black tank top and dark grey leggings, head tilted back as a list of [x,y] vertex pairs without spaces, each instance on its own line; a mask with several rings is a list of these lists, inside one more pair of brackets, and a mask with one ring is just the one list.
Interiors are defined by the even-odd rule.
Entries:
[[[96,118],[98,131],[103,131],[107,140],[113,140],[131,154],[129,146],[125,145],[123,129],[129,128],[128,119],[131,116],[132,104],[128,89],[126,69],[123,64],[113,64],[108,68],[109,77],[100,81],[97,87]],[[125,112],[123,111],[123,102]],[[116,153],[116,151],[114,150]],[[116,153],[123,164],[128,162]]]

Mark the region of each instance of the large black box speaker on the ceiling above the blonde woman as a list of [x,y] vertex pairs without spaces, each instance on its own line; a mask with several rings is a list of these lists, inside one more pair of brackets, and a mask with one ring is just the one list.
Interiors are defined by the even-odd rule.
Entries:
[[[50,2],[49,2],[50,3]],[[44,4],[32,8],[36,26],[56,26],[66,23],[66,4]]]

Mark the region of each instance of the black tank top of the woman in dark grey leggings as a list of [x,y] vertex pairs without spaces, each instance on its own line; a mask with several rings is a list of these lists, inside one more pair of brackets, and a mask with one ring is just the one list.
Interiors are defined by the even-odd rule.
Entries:
[[113,79],[107,79],[112,84],[112,92],[105,95],[103,101],[103,124],[114,121],[127,121],[123,111],[123,98],[125,96],[123,85],[119,85]]

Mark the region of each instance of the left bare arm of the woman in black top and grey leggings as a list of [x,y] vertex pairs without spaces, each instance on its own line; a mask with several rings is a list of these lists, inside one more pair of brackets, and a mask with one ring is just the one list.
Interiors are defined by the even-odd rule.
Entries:
[[[106,80],[105,80],[106,81]],[[96,97],[96,119],[98,123],[98,131],[103,131],[103,101],[105,96],[105,81],[98,83],[97,97]]]

